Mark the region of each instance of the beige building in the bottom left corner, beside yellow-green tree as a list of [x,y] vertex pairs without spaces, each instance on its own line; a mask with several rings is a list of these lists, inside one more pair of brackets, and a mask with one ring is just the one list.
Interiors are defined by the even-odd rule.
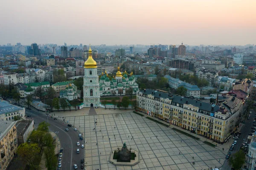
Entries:
[[17,150],[17,121],[0,121],[0,170],[7,170]]

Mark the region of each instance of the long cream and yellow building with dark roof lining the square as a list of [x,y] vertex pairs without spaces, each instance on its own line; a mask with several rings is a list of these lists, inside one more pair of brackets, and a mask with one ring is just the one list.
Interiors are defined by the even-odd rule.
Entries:
[[141,112],[222,144],[235,130],[242,100],[230,96],[216,105],[144,89],[137,95],[137,107]]

